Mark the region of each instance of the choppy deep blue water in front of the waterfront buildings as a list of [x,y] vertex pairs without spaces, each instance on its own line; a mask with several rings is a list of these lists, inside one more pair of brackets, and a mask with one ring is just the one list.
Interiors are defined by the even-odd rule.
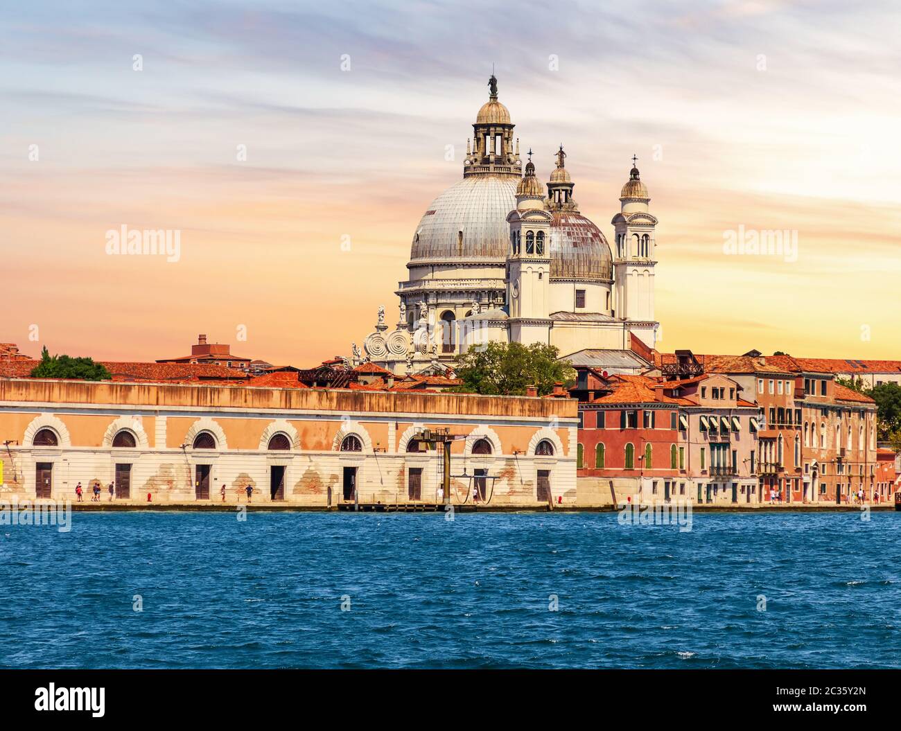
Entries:
[[0,666],[901,667],[901,513],[73,522],[0,527]]

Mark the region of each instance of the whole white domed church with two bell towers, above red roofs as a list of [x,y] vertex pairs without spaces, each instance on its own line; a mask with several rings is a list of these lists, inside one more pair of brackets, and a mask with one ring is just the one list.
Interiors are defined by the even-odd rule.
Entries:
[[[469,347],[542,343],[561,356],[620,350],[633,334],[654,347],[655,227],[637,167],[611,221],[614,248],[579,212],[562,145],[546,184],[524,166],[496,78],[467,140],[463,177],[435,198],[411,242],[393,329],[354,346],[396,374],[440,372]],[[633,159],[634,162],[634,159]]]

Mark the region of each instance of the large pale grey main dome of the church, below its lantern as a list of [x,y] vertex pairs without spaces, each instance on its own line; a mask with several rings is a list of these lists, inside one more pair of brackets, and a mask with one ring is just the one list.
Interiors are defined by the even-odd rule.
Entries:
[[510,247],[507,213],[516,207],[519,176],[464,177],[439,195],[413,237],[411,264],[477,259],[503,264]]

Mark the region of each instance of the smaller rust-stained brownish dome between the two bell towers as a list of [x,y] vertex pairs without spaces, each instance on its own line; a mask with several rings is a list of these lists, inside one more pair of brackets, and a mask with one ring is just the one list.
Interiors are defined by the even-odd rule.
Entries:
[[551,279],[613,279],[613,254],[604,234],[585,216],[554,211],[550,234]]

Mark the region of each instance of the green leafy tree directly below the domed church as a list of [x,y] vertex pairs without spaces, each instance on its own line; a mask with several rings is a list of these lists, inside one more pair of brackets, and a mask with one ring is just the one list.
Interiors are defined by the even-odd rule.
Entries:
[[576,378],[569,361],[557,359],[560,351],[533,343],[488,343],[470,347],[457,358],[455,391],[485,395],[523,395],[526,386],[537,386],[539,395],[551,393],[554,384],[570,384]]

